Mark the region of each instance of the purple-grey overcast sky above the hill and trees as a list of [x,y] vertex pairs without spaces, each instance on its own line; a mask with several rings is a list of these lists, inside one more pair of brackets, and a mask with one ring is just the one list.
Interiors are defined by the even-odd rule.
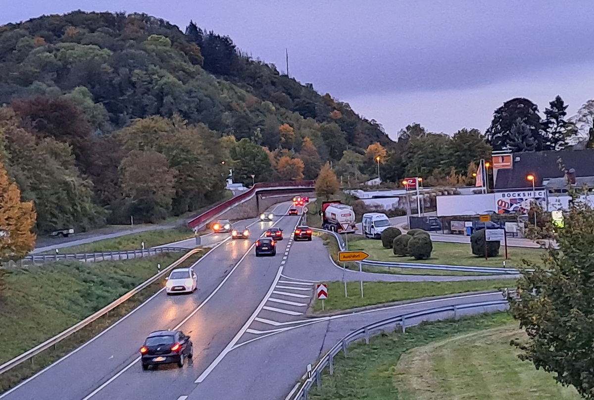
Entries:
[[573,114],[594,97],[594,1],[27,0],[0,24],[72,10],[146,12],[228,34],[242,51],[312,83],[391,137],[412,122],[478,128],[505,100]]

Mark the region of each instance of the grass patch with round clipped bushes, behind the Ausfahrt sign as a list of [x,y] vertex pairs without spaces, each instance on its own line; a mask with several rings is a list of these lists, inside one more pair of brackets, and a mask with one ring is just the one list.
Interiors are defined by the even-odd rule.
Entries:
[[[383,248],[381,240],[360,239],[349,241],[349,250],[363,250],[369,254],[369,260],[387,261],[387,262],[406,262],[422,264],[448,264],[463,265],[472,267],[503,267],[505,260],[504,249],[501,248],[500,256],[491,257],[485,260],[485,257],[477,257],[472,254],[470,244],[433,242],[433,252],[431,259],[415,260],[412,257],[394,256],[391,248]],[[539,248],[508,247],[509,259],[505,266],[509,268],[520,267],[522,260],[539,263],[546,250]]]

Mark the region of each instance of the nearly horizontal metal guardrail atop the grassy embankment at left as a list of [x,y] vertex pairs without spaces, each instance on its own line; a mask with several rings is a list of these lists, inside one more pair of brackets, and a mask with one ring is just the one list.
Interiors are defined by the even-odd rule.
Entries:
[[[156,256],[163,253],[177,253],[188,251],[183,247],[154,247],[145,250],[118,250],[101,251],[97,253],[74,253],[74,254],[30,254],[22,259],[21,266],[24,264],[50,263],[66,260],[80,260],[83,262],[100,262],[107,260],[128,260],[140,257]],[[125,256],[125,257],[124,257]]]

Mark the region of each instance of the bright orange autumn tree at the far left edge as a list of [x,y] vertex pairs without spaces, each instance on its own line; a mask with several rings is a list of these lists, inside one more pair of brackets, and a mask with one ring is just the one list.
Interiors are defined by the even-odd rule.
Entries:
[[18,260],[33,250],[36,217],[33,202],[21,201],[21,191],[0,160],[0,260]]

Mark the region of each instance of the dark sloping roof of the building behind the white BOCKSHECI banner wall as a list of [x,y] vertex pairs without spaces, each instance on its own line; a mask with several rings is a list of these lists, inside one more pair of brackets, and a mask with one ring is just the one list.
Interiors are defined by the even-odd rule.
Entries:
[[[511,159],[510,169],[498,169],[495,173],[495,191],[531,189],[528,175],[534,177],[535,187],[546,188],[549,193],[559,193],[572,179],[574,185],[594,184],[594,150],[591,149],[513,153]],[[559,160],[570,176],[561,171]]]

